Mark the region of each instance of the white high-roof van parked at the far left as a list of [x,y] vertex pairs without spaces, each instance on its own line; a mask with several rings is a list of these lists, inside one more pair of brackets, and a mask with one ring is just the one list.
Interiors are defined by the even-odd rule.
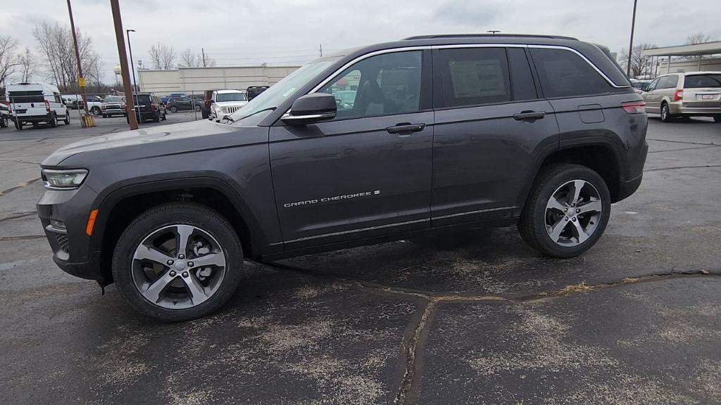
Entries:
[[68,125],[70,113],[63,103],[58,87],[45,83],[10,83],[5,89],[15,128],[22,125],[48,123],[58,126],[58,120]]

